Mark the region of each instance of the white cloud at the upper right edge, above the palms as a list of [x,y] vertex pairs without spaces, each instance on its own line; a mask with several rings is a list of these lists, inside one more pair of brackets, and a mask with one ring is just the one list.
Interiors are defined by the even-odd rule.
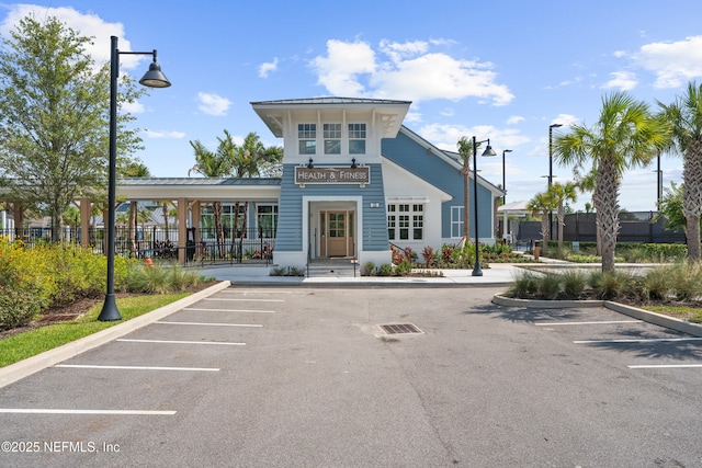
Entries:
[[633,59],[656,73],[656,88],[678,88],[702,77],[702,36],[686,37],[673,43],[642,46]]

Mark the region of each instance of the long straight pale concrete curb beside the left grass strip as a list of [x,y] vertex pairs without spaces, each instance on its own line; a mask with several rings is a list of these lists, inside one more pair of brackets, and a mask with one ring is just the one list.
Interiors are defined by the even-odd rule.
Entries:
[[84,353],[86,351],[92,350],[93,347],[98,347],[104,343],[131,333],[144,326],[160,320],[163,317],[167,317],[182,309],[183,307],[188,307],[192,304],[195,304],[200,299],[218,293],[222,289],[226,289],[227,287],[229,287],[229,285],[230,283],[228,281],[220,282],[206,289],[192,294],[188,297],[183,297],[182,299],[169,304],[168,306],[163,306],[143,316],[135,317],[132,320],[127,320],[124,323],[110,327],[97,333],[83,336],[80,340],[66,343],[54,350],[45,351],[44,353],[37,354],[36,356],[27,357],[26,359],[20,361],[19,363],[2,367],[0,368],[0,388],[18,381],[24,377],[27,377],[34,373],[37,373],[42,369],[45,369],[46,367],[58,364],[61,361],[66,361],[80,353]]

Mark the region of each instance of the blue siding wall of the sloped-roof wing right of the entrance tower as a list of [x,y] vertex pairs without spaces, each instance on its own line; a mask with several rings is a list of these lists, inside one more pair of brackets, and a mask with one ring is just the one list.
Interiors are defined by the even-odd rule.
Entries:
[[[441,236],[443,238],[450,238],[451,207],[463,206],[463,175],[458,169],[433,153],[427,153],[426,147],[419,145],[403,132],[397,134],[397,138],[384,138],[381,142],[381,148],[384,157],[453,196],[453,199],[444,202],[441,208]],[[473,161],[471,161],[471,167],[473,167]],[[478,158],[478,170],[479,169],[480,158]],[[469,181],[468,190],[471,203],[468,207],[471,237],[475,237],[473,179]],[[490,191],[478,184],[478,225],[480,238],[489,238],[492,236],[490,198]]]

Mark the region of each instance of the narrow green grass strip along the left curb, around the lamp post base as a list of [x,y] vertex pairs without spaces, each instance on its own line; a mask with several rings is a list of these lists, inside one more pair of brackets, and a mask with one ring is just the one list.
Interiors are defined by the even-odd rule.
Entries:
[[117,298],[116,303],[120,313],[122,315],[122,320],[98,321],[98,316],[102,310],[102,304],[97,304],[84,316],[76,320],[39,327],[24,333],[5,338],[4,340],[0,340],[0,367],[9,366],[10,364],[88,336],[100,330],[123,323],[125,320],[167,306],[190,294],[191,293],[159,294]]

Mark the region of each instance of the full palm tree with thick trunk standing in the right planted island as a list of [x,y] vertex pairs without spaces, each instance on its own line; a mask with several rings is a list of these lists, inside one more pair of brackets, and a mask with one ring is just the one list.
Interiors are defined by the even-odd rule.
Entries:
[[668,126],[663,118],[653,116],[646,103],[621,91],[602,99],[595,126],[574,124],[570,133],[556,138],[556,161],[576,168],[591,162],[592,170],[597,171],[592,199],[602,242],[603,272],[614,270],[622,175],[630,168],[648,164],[667,140]]

